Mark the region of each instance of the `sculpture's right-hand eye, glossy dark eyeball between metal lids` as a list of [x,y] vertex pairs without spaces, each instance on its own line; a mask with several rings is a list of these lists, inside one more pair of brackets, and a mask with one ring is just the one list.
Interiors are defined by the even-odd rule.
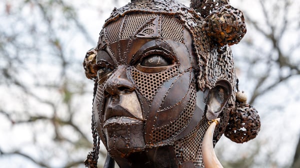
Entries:
[[140,62],[140,65],[147,67],[168,66],[171,64],[172,62],[170,60],[159,54],[149,55],[143,58]]

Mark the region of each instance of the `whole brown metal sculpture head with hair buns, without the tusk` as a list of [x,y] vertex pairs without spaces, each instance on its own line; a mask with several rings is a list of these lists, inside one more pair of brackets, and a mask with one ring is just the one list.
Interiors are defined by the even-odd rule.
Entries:
[[[239,143],[256,136],[255,109],[235,99],[228,46],[245,33],[242,13],[222,0],[191,5],[132,0],[105,21],[83,63],[95,81],[87,167],[96,167],[99,139],[120,168],[203,168],[208,121],[220,118],[214,144],[223,133]],[[243,107],[250,112],[240,115]]]

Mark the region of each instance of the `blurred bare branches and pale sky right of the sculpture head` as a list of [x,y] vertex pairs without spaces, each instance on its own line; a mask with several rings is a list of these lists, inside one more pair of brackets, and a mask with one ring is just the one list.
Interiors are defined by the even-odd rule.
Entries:
[[[295,146],[289,137],[295,133],[288,132],[300,128],[291,124],[298,117],[296,108],[294,115],[287,112],[289,106],[299,104],[300,4],[296,0],[241,0],[235,7],[244,12],[247,25],[244,39],[233,46],[240,89],[258,110],[262,128],[252,142],[234,146],[233,153],[218,149],[224,153],[220,155],[226,168],[287,168],[292,154],[283,148],[294,150]],[[290,115],[293,118],[285,117]]]

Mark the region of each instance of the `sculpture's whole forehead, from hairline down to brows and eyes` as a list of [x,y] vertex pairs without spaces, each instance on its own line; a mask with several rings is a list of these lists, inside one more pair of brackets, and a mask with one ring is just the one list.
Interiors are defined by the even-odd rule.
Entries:
[[[181,63],[196,62],[192,52],[191,34],[174,15],[127,13],[106,23],[98,41],[98,49],[108,52],[114,65],[131,64],[137,52],[151,47],[158,50],[164,48],[175,53],[174,57]],[[102,59],[103,56],[99,54],[100,52],[97,58]]]

